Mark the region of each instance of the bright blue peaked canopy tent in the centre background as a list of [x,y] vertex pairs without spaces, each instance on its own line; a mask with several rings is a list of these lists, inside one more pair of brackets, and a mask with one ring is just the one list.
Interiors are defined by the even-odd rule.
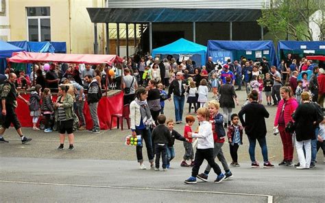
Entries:
[[187,55],[191,60],[195,61],[197,66],[206,62],[206,46],[193,43],[184,38],[152,50],[152,56],[160,55],[160,58],[166,58],[169,54],[176,59],[180,58],[180,55]]

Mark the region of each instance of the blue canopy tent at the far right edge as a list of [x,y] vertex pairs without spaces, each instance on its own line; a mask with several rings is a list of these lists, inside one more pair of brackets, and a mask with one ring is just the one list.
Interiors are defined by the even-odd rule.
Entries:
[[284,59],[287,53],[291,53],[293,58],[302,58],[304,56],[325,55],[324,41],[279,41],[278,59]]

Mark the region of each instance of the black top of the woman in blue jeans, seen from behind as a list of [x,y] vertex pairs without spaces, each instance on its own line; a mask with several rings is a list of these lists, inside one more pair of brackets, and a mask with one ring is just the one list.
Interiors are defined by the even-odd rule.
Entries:
[[[266,135],[265,118],[269,117],[269,112],[262,104],[252,101],[250,104],[243,106],[238,115],[248,136],[261,138]],[[245,115],[245,120],[243,115]]]

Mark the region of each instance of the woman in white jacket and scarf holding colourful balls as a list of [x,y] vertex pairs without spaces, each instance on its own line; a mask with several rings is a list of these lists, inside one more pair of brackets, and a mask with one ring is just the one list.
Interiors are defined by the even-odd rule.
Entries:
[[[152,115],[147,104],[148,93],[145,88],[139,88],[136,91],[136,99],[130,104],[130,119],[132,135],[141,135],[143,141],[145,141],[145,147],[147,147],[147,156],[149,163],[154,168],[154,152],[152,150],[152,136],[150,132],[150,126],[154,124]],[[136,158],[140,164],[140,169],[147,169],[143,164],[142,145],[136,146]]]

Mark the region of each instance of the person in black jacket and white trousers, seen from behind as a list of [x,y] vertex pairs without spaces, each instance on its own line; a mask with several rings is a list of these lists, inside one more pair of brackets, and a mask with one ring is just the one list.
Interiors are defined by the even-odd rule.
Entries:
[[296,149],[300,163],[296,169],[309,169],[311,165],[311,139],[315,138],[317,112],[313,104],[310,103],[308,92],[302,93],[301,99],[302,104],[298,106],[292,117],[296,121]]

